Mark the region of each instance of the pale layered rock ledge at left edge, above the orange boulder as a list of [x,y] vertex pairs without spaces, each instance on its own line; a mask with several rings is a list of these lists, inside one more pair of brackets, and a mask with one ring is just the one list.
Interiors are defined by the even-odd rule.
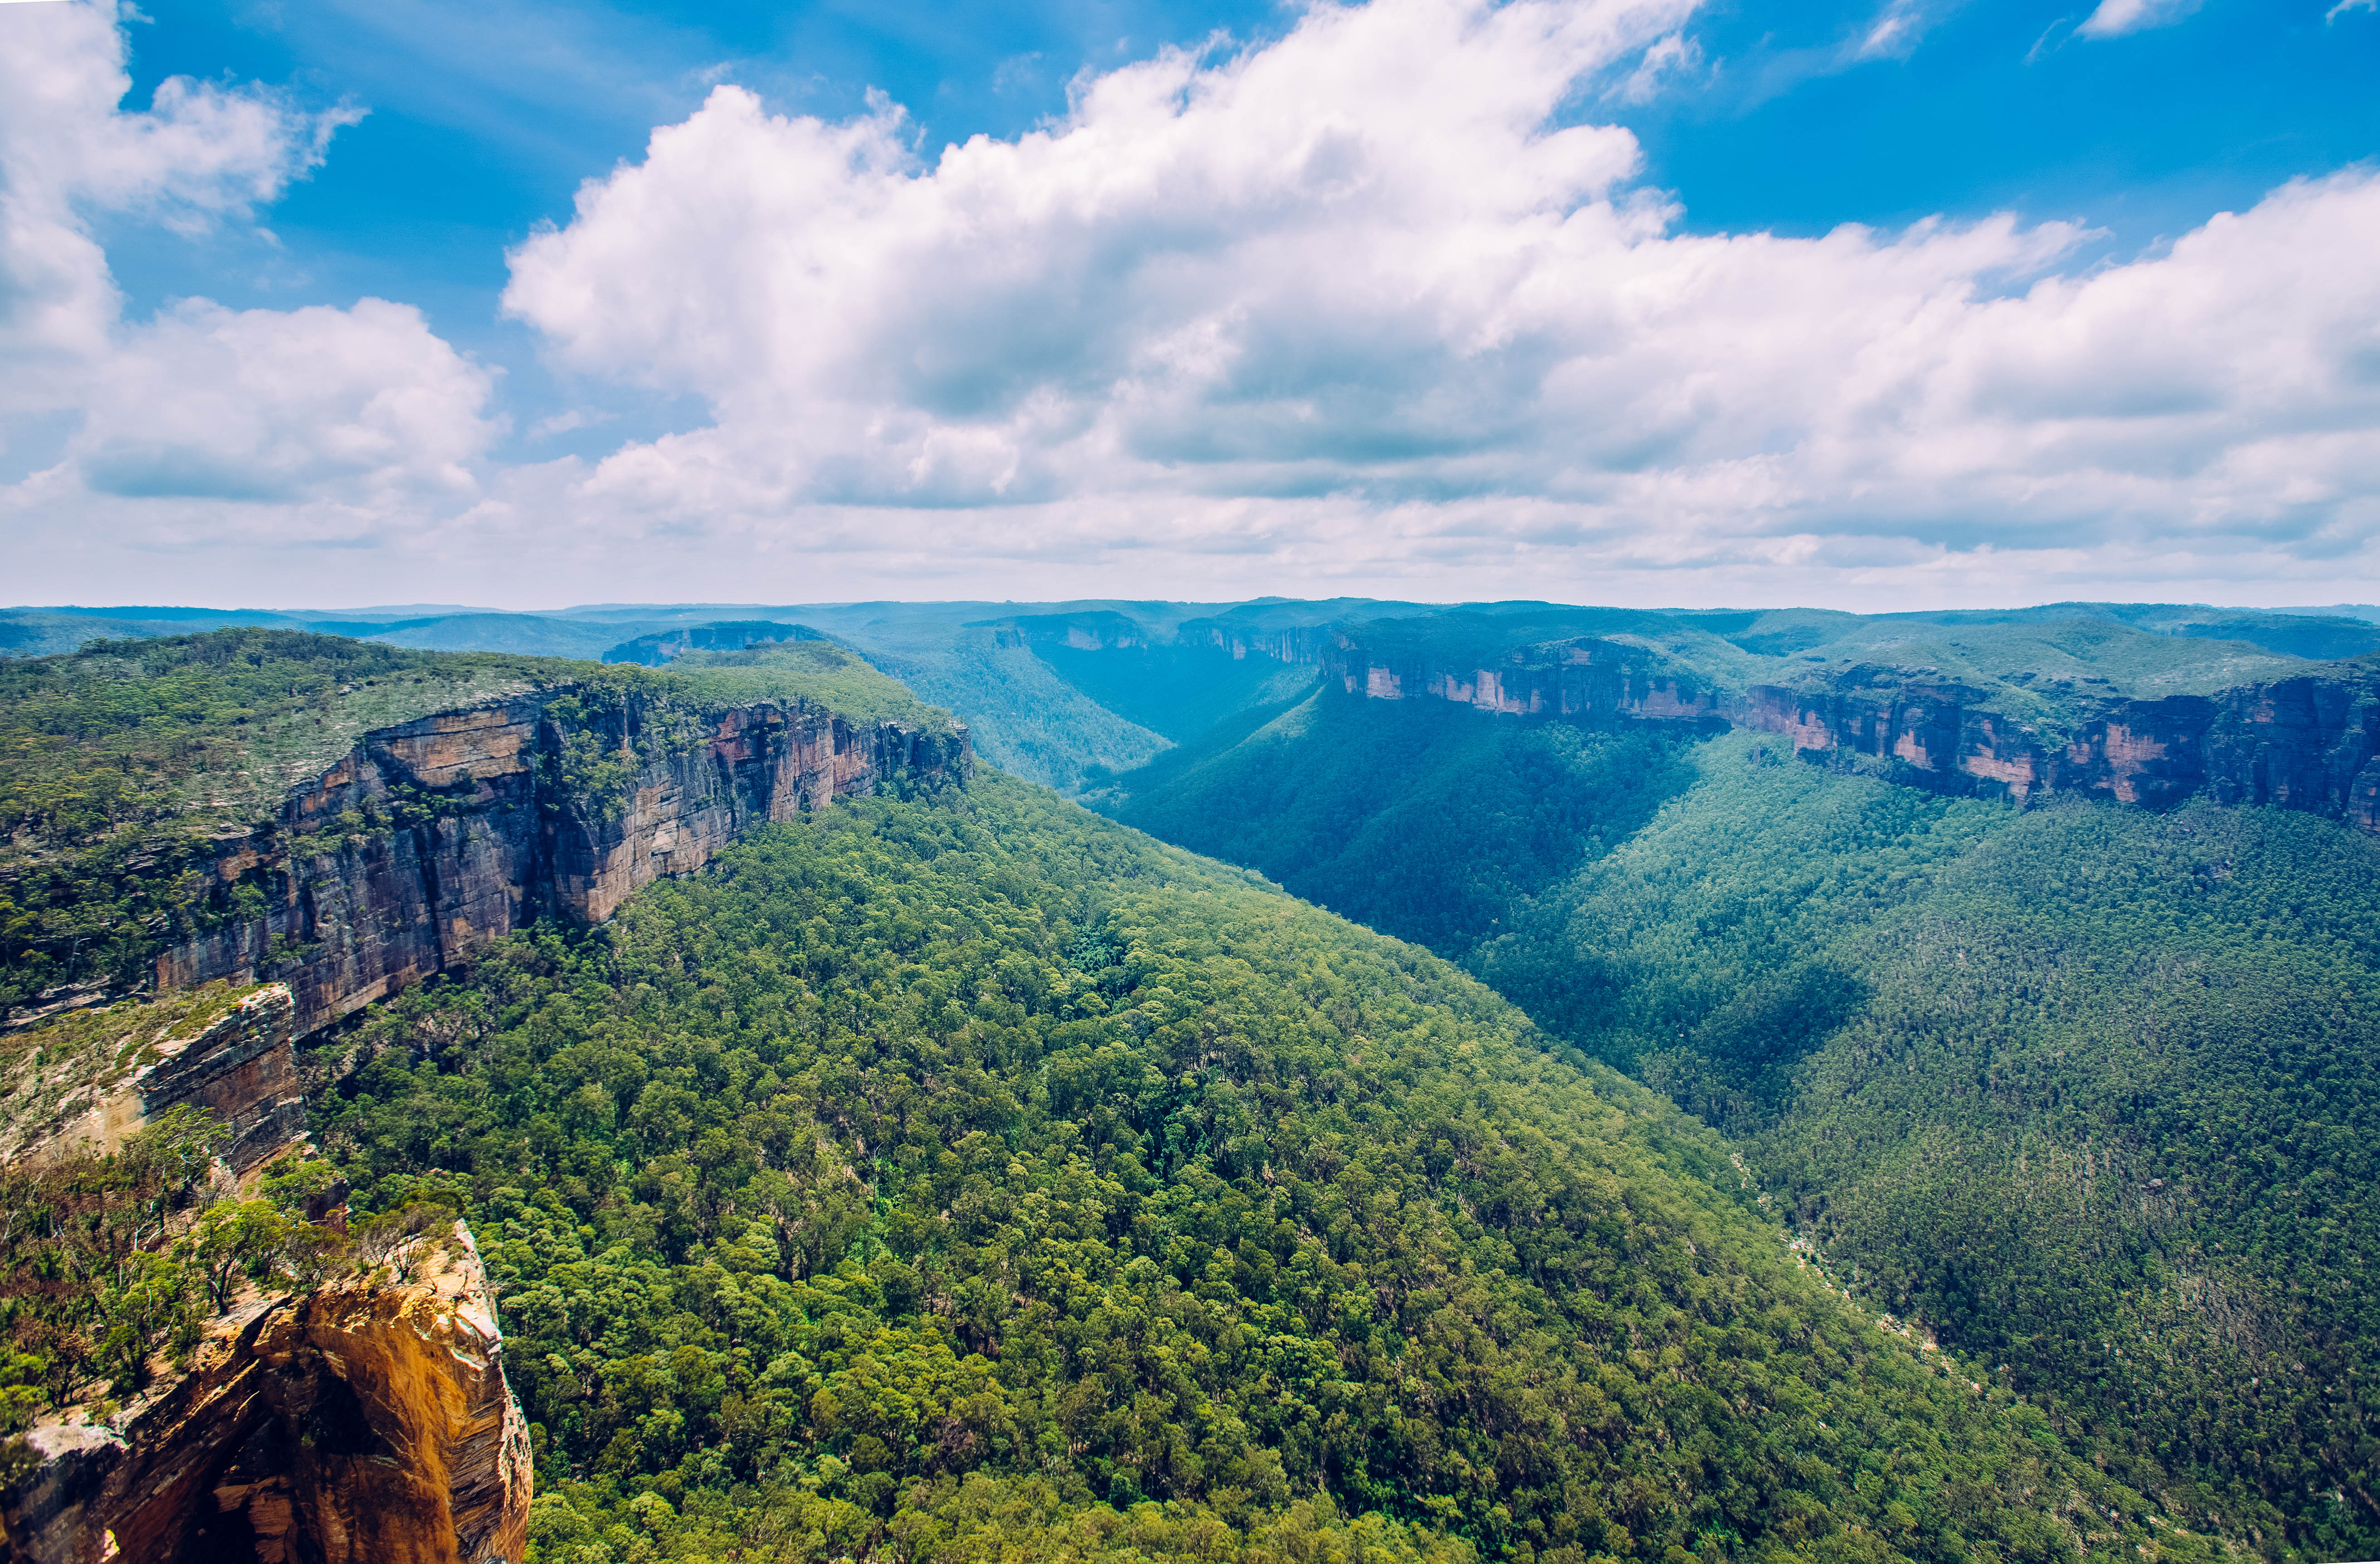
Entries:
[[209,990],[48,1026],[0,1100],[0,1162],[114,1152],[176,1107],[231,1128],[221,1157],[245,1174],[305,1131],[288,986]]

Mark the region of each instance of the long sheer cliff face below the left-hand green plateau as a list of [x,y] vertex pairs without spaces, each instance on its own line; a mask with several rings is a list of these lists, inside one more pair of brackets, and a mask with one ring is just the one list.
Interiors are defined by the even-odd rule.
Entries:
[[538,916],[597,924],[762,821],[878,783],[964,781],[966,731],[759,702],[688,721],[569,690],[367,733],[281,817],[219,843],[202,895],[259,916],[157,957],[157,988],[283,976],[305,1036]]

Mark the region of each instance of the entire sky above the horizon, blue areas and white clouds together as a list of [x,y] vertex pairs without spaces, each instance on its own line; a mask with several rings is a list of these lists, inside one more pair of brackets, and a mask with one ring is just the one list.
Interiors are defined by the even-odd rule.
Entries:
[[12,602],[2380,598],[2370,0],[0,0]]

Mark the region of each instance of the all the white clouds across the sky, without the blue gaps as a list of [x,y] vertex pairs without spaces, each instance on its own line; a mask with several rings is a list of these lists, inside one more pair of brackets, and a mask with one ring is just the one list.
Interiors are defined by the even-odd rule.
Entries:
[[[1697,57],[1690,0],[1319,5],[935,155],[890,102],[828,124],[721,86],[505,295],[557,367],[709,421],[521,469],[483,455],[490,374],[400,305],[114,321],[76,200],[238,214],[324,131],[214,88],[124,114],[112,19],[71,10],[105,21],[69,93],[93,150],[10,133],[55,195],[0,259],[62,255],[40,298],[100,300],[40,317],[81,336],[19,324],[33,290],[0,305],[83,367],[69,459],[17,490],[43,514],[167,540],[293,509],[412,586],[471,562],[514,600],[2380,578],[2373,171],[2121,264],[2013,217],[1687,233],[1599,119]],[[119,164],[164,171],[79,171]]]

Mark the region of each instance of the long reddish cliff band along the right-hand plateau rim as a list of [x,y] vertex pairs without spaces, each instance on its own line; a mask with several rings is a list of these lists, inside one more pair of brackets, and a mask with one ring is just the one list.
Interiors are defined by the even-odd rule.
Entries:
[[1894,759],[1904,778],[1954,793],[2023,800],[2059,790],[2144,807],[2206,793],[2380,831],[2375,659],[2218,695],[2082,697],[2078,719],[2047,733],[2047,724],[1997,709],[1992,690],[1899,669],[1730,693],[1666,667],[1656,652],[1604,638],[1533,645],[1497,667],[1383,655],[1345,631],[1330,631],[1321,648],[1285,640],[1278,650],[1245,650],[1321,662],[1349,695],[1373,700],[1454,700],[1483,712],[1697,731],[1749,726],[1792,738],[1795,750]]

